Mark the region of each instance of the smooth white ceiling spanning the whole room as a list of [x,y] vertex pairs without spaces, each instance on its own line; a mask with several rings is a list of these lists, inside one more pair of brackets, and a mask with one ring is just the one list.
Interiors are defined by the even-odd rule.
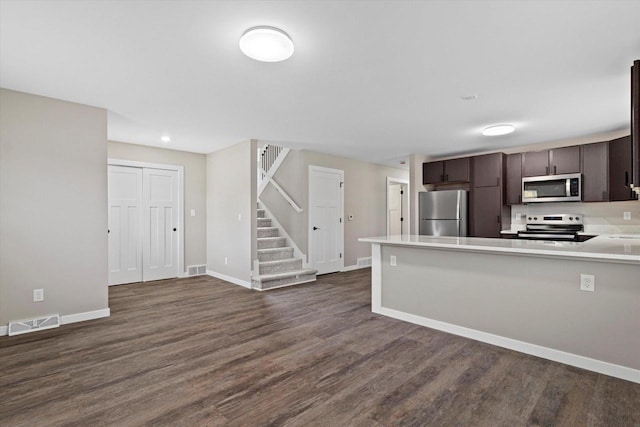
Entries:
[[[639,22],[640,1],[612,0],[1,0],[0,85],[106,108],[112,140],[388,163],[627,129]],[[245,57],[257,25],[294,55]]]

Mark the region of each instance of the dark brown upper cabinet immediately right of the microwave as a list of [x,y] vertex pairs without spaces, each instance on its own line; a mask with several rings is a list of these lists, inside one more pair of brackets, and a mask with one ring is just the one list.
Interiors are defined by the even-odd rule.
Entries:
[[582,201],[609,201],[609,144],[582,146]]

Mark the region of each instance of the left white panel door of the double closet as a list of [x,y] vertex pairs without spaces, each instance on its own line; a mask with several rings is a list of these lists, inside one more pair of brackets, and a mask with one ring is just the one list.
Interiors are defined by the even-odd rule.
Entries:
[[142,281],[142,169],[109,166],[109,285]]

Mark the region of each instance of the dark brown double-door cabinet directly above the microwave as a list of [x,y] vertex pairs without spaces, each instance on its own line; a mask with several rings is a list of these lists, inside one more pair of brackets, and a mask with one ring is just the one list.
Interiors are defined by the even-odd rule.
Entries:
[[522,153],[522,176],[580,172],[580,146]]

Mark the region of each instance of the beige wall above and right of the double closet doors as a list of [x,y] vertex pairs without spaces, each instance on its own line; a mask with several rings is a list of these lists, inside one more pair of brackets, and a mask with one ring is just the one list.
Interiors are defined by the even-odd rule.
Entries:
[[107,143],[107,152],[110,159],[184,166],[184,266],[206,264],[207,156],[115,141]]

